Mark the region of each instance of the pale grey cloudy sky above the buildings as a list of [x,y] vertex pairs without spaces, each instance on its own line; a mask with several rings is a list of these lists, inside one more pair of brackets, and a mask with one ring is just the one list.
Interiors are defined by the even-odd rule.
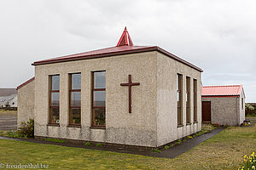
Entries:
[[0,88],[33,77],[33,61],[115,46],[157,45],[201,67],[207,85],[243,84],[256,102],[255,0],[1,0]]

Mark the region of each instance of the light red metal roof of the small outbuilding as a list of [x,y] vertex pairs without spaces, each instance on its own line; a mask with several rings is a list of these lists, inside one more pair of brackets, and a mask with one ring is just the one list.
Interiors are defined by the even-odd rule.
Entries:
[[242,85],[230,86],[207,86],[201,87],[201,96],[239,96],[242,91]]

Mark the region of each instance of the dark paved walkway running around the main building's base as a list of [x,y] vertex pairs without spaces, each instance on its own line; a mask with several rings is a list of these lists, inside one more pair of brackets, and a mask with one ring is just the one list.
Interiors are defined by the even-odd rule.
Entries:
[[49,142],[39,139],[15,139],[15,138],[8,138],[0,136],[0,139],[10,139],[16,141],[25,141],[25,142],[32,142],[38,144],[57,144],[62,146],[68,147],[76,147],[76,148],[85,148],[85,149],[92,149],[92,150],[106,150],[106,151],[115,151],[119,153],[127,153],[127,154],[136,154],[142,156],[154,156],[154,157],[166,157],[166,158],[173,158],[183,154],[184,152],[191,150],[196,145],[201,144],[203,141],[212,138],[219,132],[224,130],[224,128],[216,128],[212,130],[210,133],[202,134],[201,136],[195,137],[194,139],[189,139],[182,144],[172,147],[169,150],[163,150],[160,153],[154,153],[151,150],[125,150],[124,148],[110,148],[110,147],[97,147],[97,146],[85,146],[84,144],[71,144],[71,143],[57,143],[57,142]]

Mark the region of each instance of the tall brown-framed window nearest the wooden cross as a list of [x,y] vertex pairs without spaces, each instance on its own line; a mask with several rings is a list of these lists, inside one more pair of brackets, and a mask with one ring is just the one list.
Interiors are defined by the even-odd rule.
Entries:
[[92,126],[106,126],[106,71],[92,72]]

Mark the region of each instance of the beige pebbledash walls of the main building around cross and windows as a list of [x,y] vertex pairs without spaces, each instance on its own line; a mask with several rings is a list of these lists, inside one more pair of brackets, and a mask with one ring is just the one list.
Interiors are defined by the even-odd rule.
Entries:
[[[106,71],[106,129],[90,126],[91,71]],[[81,127],[67,127],[68,73],[75,72],[81,72]],[[183,74],[183,127],[177,127],[177,73]],[[59,127],[48,124],[49,75],[55,74],[60,74]],[[140,82],[139,86],[132,87],[131,114],[128,112],[128,88],[120,86],[128,81],[129,74],[132,82]],[[186,125],[184,107],[186,76],[191,80],[192,123],[189,125]],[[198,86],[198,121],[195,123],[193,78],[197,79]],[[27,85],[33,86],[32,83]],[[157,51],[36,65],[34,83],[33,114],[38,137],[158,147],[201,130],[201,72]],[[33,97],[32,93],[30,95],[26,99]],[[26,115],[25,110],[20,107],[19,111]]]

